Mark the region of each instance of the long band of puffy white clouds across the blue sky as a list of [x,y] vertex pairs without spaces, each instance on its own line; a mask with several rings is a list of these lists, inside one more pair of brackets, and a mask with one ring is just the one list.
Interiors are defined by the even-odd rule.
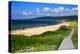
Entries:
[[[77,7],[75,8],[64,8],[64,7],[57,7],[57,8],[49,8],[44,7],[43,9],[36,8],[36,16],[66,16],[66,15],[77,15]],[[35,14],[31,11],[22,12],[22,15],[31,15]]]

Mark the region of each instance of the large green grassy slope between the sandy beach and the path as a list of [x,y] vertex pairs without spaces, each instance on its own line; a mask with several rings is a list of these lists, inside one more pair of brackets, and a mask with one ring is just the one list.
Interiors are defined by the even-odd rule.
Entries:
[[55,32],[40,35],[11,35],[11,52],[30,52],[57,50],[62,40],[71,32],[69,27],[62,26]]

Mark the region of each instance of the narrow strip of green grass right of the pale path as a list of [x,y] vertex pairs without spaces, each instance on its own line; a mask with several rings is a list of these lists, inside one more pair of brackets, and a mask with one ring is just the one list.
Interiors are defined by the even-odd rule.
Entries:
[[78,22],[77,20],[72,21],[72,27],[74,28],[74,34],[72,37],[72,41],[74,44],[74,47],[77,49],[78,48]]

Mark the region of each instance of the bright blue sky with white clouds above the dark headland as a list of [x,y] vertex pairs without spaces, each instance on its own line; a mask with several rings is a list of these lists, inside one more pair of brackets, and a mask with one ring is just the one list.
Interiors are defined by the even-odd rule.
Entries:
[[30,19],[42,16],[70,16],[78,14],[77,5],[36,3],[36,2],[11,2],[11,19]]

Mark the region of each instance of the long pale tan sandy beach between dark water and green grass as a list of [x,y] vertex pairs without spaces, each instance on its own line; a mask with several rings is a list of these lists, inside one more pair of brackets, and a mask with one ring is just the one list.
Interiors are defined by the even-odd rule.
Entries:
[[11,31],[11,34],[13,34],[13,35],[25,35],[25,36],[39,35],[39,34],[42,34],[46,31],[56,31],[63,25],[69,26],[69,22],[63,22],[63,23],[59,23],[57,25],[51,25],[51,26],[14,30],[14,31]]

